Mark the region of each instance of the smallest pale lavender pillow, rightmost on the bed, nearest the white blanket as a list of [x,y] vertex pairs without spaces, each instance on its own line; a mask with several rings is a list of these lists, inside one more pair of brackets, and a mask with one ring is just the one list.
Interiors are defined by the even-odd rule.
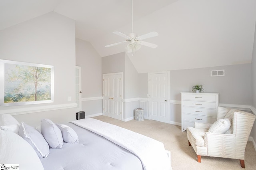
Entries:
[[76,132],[69,126],[63,124],[56,124],[60,128],[63,140],[67,143],[78,143],[78,136]]

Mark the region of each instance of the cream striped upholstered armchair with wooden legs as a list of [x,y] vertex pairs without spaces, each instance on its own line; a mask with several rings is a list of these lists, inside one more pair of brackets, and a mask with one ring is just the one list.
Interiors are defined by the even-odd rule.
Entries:
[[[239,159],[245,168],[244,152],[255,117],[244,111],[218,107],[214,124],[194,123],[194,127],[187,127],[188,145],[195,150],[198,162],[201,156],[232,158]],[[226,129],[216,130],[214,125],[215,128],[224,125]]]

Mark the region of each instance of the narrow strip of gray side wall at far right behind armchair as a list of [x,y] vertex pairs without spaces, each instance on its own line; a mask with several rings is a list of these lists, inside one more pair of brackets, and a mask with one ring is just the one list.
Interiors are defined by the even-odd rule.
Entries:
[[[254,44],[252,50],[252,108],[254,109],[254,115],[256,115],[256,24],[254,32]],[[256,142],[256,121],[254,121],[251,136],[253,137],[254,142]]]

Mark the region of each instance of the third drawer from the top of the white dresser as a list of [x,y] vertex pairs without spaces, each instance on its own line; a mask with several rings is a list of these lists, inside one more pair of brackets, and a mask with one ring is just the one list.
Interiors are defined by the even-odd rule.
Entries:
[[199,107],[183,107],[183,113],[216,117],[216,109],[204,109]]

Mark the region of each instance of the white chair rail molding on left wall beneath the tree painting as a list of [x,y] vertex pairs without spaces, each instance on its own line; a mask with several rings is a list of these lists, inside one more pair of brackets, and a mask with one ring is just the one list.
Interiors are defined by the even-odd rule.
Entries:
[[44,111],[53,111],[60,109],[70,109],[77,107],[76,103],[66,103],[61,105],[47,105],[47,106],[35,106],[35,107],[26,107],[18,109],[6,109],[1,110],[0,114],[10,114],[10,115],[22,115],[28,113],[44,112]]

